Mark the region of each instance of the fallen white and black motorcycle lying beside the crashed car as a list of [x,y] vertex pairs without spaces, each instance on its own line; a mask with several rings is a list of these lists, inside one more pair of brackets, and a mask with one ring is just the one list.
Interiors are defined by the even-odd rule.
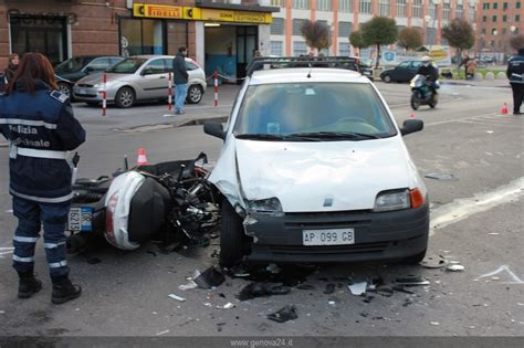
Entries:
[[207,156],[77,179],[69,214],[67,251],[78,253],[104,238],[122,250],[148,240],[198,244],[219,226],[214,187],[207,181]]

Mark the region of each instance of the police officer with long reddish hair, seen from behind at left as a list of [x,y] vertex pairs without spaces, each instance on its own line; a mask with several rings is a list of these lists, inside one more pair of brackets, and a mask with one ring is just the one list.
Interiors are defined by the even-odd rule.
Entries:
[[10,193],[19,221],[13,238],[18,297],[29,298],[42,288],[33,267],[43,225],[51,300],[61,304],[81,295],[81,287],[69,278],[64,230],[72,198],[67,151],[84,143],[85,130],[67,96],[56,88],[48,59],[25,53],[7,94],[0,96],[0,131],[10,143]]

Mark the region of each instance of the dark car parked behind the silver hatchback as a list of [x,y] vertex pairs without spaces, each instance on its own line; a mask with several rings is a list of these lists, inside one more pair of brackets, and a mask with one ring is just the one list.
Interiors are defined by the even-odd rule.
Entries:
[[54,67],[59,91],[72,95],[76,81],[88,74],[106,71],[122,60],[124,57],[118,55],[83,55],[63,61]]

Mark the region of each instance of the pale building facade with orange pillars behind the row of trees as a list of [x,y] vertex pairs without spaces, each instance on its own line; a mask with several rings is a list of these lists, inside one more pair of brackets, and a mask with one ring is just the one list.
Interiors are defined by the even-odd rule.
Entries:
[[308,52],[300,28],[306,20],[324,21],[332,30],[328,54],[353,54],[349,35],[376,15],[390,17],[399,30],[420,29],[427,44],[446,44],[441,28],[454,18],[475,23],[478,0],[271,0],[281,8],[271,27],[271,54]]

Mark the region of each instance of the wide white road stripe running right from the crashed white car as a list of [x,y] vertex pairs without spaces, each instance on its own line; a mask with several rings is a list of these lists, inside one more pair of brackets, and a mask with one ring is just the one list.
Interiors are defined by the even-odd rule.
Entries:
[[502,186],[493,191],[475,194],[472,198],[455,199],[451,203],[431,212],[430,232],[464,220],[470,215],[488,211],[496,205],[517,200],[524,194],[524,177]]

